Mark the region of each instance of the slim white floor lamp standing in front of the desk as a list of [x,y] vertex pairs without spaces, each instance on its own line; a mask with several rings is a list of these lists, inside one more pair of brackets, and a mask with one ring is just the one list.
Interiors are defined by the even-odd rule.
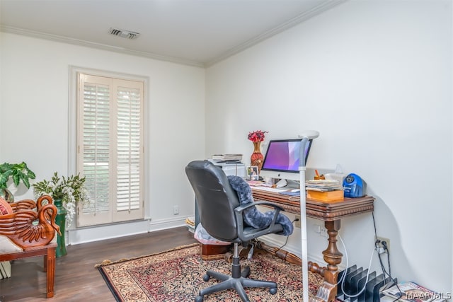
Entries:
[[[302,238],[302,289],[303,289],[303,301],[309,301],[309,262],[308,262],[308,251],[306,246],[306,187],[305,187],[305,148],[309,139],[316,139],[319,137],[319,132],[315,130],[307,130],[299,134],[302,139],[300,146],[299,156],[299,177],[300,177],[300,233]],[[304,190],[302,190],[302,186]]]

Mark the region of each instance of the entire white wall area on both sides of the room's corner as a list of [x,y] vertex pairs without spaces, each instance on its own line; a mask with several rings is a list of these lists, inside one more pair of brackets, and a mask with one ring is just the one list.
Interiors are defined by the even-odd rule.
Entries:
[[[188,161],[219,152],[247,161],[256,129],[266,139],[317,129],[309,167],[340,163],[367,182],[394,277],[453,291],[451,1],[350,0],[211,66],[206,82],[197,67],[31,37],[0,33],[0,46],[1,162],[26,161],[38,180],[67,173],[70,65],[147,76],[151,229],[193,215]],[[24,191],[16,198],[32,197]],[[311,257],[326,245],[315,223]],[[368,214],[343,219],[350,264],[367,266],[372,228]]]

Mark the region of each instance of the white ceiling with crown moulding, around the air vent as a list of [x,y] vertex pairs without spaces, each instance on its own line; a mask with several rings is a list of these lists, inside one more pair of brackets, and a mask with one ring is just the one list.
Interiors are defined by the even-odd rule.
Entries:
[[0,0],[0,30],[209,66],[344,1]]

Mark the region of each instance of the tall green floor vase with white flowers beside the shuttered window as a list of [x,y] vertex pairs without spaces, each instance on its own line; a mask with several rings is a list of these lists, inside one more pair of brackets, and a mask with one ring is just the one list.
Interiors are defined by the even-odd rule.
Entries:
[[78,175],[71,175],[67,178],[59,177],[57,172],[54,173],[50,180],[42,180],[33,184],[35,197],[40,197],[43,194],[50,195],[54,199],[55,207],[57,207],[57,217],[55,222],[58,224],[62,235],[58,235],[56,250],[57,257],[67,255],[66,243],[64,240],[64,228],[66,223],[71,224],[71,221],[76,213],[76,205],[78,203],[88,204],[90,199],[88,191],[85,188],[85,178]]

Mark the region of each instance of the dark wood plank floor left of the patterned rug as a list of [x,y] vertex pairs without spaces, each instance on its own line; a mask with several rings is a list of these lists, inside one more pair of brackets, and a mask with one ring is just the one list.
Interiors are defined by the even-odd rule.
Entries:
[[12,277],[0,280],[0,302],[8,301],[115,301],[94,266],[103,260],[120,260],[196,243],[186,227],[171,228],[95,243],[70,245],[68,255],[57,258],[55,296],[45,298],[46,274],[42,257],[16,260]]

